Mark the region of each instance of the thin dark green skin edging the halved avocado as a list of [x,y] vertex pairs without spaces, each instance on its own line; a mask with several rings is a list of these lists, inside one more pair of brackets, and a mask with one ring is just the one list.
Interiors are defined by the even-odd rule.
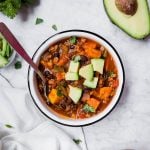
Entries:
[[118,26],[122,31],[124,31],[125,33],[127,33],[130,37],[132,37],[132,38],[134,38],[134,39],[137,39],[137,40],[145,39],[147,36],[150,35],[150,8],[149,8],[149,6],[148,6],[148,1],[147,1],[147,0],[145,0],[145,2],[146,2],[146,6],[147,6],[146,9],[147,9],[148,12],[149,12],[149,15],[148,15],[148,16],[149,16],[149,18],[148,18],[148,19],[149,19],[149,32],[146,33],[146,34],[143,35],[143,36],[136,36],[136,35],[130,33],[128,30],[123,29],[123,28],[118,24],[118,22],[114,21],[113,18],[111,17],[111,15],[109,15],[109,13],[108,13],[108,11],[107,11],[105,1],[106,1],[106,0],[103,0],[103,5],[104,5],[105,12],[106,12],[108,18],[110,19],[110,21],[111,21],[114,25]]

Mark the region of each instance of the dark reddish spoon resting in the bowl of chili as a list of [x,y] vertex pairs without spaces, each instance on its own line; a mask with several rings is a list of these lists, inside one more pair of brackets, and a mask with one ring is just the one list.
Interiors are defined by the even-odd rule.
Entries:
[[42,72],[38,69],[38,66],[33,62],[33,60],[30,58],[30,56],[27,54],[27,52],[24,50],[24,48],[21,46],[21,44],[12,34],[12,32],[8,29],[8,27],[2,22],[0,22],[0,33],[4,36],[4,38],[8,41],[8,43],[13,47],[13,49],[34,69],[37,75],[41,78],[43,88],[44,88],[44,96],[48,100],[48,97],[46,94],[46,91],[48,88],[46,84],[46,79],[44,75],[42,74]]

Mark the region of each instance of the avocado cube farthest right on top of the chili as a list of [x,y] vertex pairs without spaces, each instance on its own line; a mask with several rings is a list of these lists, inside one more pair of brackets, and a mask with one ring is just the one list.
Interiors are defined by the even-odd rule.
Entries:
[[91,63],[93,65],[94,71],[103,74],[104,63],[105,63],[104,59],[98,59],[98,58],[91,59]]

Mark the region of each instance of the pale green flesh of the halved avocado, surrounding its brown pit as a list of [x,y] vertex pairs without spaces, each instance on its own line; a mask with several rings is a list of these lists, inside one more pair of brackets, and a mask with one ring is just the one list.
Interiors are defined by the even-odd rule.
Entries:
[[135,39],[143,39],[150,34],[150,11],[147,0],[136,0],[134,15],[125,14],[116,5],[116,0],[103,0],[110,20]]

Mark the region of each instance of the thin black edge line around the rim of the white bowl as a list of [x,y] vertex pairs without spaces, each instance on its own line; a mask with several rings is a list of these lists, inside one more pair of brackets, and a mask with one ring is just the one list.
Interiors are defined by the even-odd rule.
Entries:
[[65,125],[65,126],[70,126],[70,127],[89,126],[89,125],[92,125],[92,124],[94,124],[94,123],[96,123],[96,122],[99,122],[100,120],[102,120],[102,119],[104,119],[105,117],[107,117],[107,116],[114,110],[114,108],[116,107],[116,105],[117,105],[118,102],[120,101],[120,98],[121,98],[122,93],[123,93],[124,85],[125,85],[125,71],[124,71],[124,66],[123,66],[122,60],[121,60],[121,58],[120,58],[120,56],[119,56],[117,50],[116,50],[116,49],[112,46],[112,44],[109,43],[105,38],[103,38],[102,36],[100,36],[100,35],[98,35],[98,34],[96,34],[96,33],[91,32],[91,31],[78,30],[78,29],[62,31],[62,32],[56,33],[56,34],[50,36],[49,38],[47,38],[47,39],[38,47],[38,49],[35,51],[35,53],[34,53],[33,56],[32,56],[32,60],[34,59],[34,57],[35,57],[37,51],[38,51],[38,50],[43,46],[43,44],[45,44],[49,39],[51,39],[51,38],[53,38],[54,36],[57,36],[57,35],[59,35],[59,34],[63,34],[63,33],[67,33],[67,32],[84,32],[84,33],[92,34],[92,35],[94,35],[94,36],[96,36],[96,37],[98,37],[98,38],[104,40],[104,41],[113,49],[113,51],[115,52],[115,54],[117,55],[117,57],[118,57],[118,59],[119,59],[119,61],[120,61],[121,68],[122,68],[122,72],[123,72],[123,83],[122,83],[121,92],[120,92],[120,94],[119,94],[119,97],[118,97],[117,102],[116,102],[115,105],[112,107],[112,109],[111,109],[107,114],[105,114],[102,118],[100,118],[100,119],[97,119],[97,120],[95,120],[95,121],[93,121],[93,122],[91,122],[91,123],[86,123],[86,124],[83,124],[83,125],[69,125],[69,124],[66,124],[66,123],[61,123],[61,122],[56,121],[56,120],[54,120],[53,118],[49,117],[45,112],[43,112],[43,111],[41,110],[41,108],[40,108],[40,107],[38,106],[38,104],[36,103],[36,101],[35,101],[35,99],[34,99],[32,93],[31,93],[30,83],[29,83],[29,74],[30,74],[30,69],[31,69],[30,66],[29,66],[29,68],[28,68],[28,75],[27,75],[27,76],[28,76],[28,77],[27,77],[27,82],[28,82],[29,93],[30,93],[31,98],[32,98],[34,104],[36,105],[36,107],[37,107],[37,108],[40,110],[40,112],[41,112],[44,116],[46,116],[48,119],[50,119],[50,120],[52,120],[52,121],[54,121],[54,122],[56,122],[56,123],[58,123],[58,124]]

